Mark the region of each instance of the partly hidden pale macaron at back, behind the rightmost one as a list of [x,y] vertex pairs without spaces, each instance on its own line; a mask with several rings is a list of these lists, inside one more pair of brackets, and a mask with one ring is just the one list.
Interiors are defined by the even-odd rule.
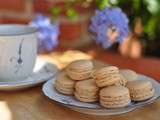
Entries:
[[120,70],[120,73],[123,75],[123,77],[127,81],[133,81],[133,80],[137,80],[138,79],[138,74],[133,70],[122,69],[122,70]]

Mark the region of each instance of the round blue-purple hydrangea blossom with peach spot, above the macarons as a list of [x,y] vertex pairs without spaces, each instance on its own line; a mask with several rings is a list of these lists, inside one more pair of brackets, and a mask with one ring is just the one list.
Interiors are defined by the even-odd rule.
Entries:
[[122,42],[129,33],[128,18],[120,8],[106,7],[96,10],[91,18],[89,30],[96,43],[108,48],[114,42]]

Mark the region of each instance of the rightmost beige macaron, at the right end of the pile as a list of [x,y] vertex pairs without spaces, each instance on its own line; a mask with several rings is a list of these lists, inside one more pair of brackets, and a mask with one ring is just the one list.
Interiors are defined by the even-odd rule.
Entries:
[[148,80],[135,80],[127,83],[126,87],[130,91],[131,100],[143,101],[154,95],[152,83]]

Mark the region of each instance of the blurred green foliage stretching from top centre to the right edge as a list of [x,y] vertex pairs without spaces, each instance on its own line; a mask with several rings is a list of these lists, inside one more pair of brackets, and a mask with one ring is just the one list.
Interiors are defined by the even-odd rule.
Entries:
[[106,6],[120,7],[129,17],[131,31],[139,19],[142,23],[142,33],[138,34],[144,53],[146,55],[160,56],[160,0],[66,0],[65,7],[51,8],[54,17],[61,12],[69,19],[78,16],[75,7],[77,4],[89,7],[94,3],[97,9],[104,9]]

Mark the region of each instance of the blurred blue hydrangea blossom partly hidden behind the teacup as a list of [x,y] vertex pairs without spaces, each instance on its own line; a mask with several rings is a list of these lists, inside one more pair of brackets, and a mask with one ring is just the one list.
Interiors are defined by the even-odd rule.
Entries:
[[38,29],[38,52],[49,52],[58,45],[59,24],[38,14],[30,25]]

